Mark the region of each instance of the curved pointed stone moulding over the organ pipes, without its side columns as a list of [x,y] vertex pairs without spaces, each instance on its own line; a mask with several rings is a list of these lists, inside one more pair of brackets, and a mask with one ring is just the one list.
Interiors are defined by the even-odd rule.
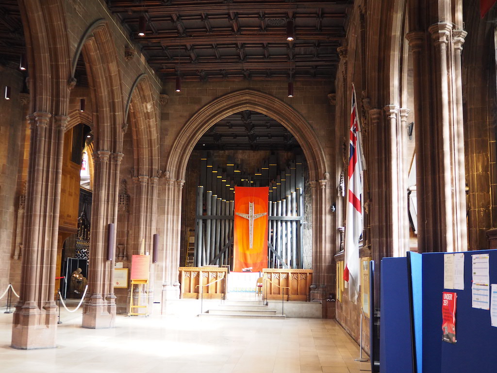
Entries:
[[241,90],[225,94],[199,109],[177,136],[166,165],[170,178],[184,180],[186,165],[200,137],[219,120],[242,110],[254,110],[279,121],[297,139],[309,166],[310,180],[324,178],[326,160],[318,136],[293,107],[270,94]]

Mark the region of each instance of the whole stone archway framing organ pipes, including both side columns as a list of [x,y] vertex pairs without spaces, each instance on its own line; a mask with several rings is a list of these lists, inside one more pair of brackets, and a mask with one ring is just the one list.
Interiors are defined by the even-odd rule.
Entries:
[[321,141],[306,119],[280,99],[249,89],[228,93],[199,109],[176,137],[166,163],[165,295],[178,291],[181,193],[186,166],[202,134],[219,120],[241,110],[268,115],[285,126],[299,142],[307,159],[312,190],[313,282],[331,285],[331,237],[327,235],[327,180],[329,174]]

